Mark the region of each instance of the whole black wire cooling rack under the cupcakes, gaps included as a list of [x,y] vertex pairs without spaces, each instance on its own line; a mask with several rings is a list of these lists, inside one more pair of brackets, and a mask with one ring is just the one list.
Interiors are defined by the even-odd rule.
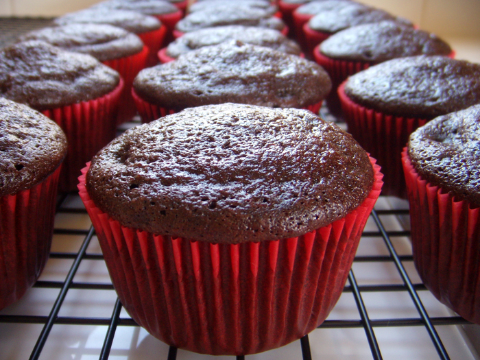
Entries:
[[[49,19],[0,19],[0,45],[48,24]],[[479,326],[437,302],[418,278],[408,216],[405,202],[381,196],[327,320],[283,348],[236,358],[479,359]],[[52,252],[42,276],[21,300],[0,311],[0,359],[28,358],[235,359],[169,347],[132,320],[75,193],[58,198]]]

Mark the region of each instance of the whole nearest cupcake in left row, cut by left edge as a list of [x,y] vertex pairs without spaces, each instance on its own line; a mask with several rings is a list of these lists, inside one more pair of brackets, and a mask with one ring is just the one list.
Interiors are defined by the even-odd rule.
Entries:
[[28,106],[0,97],[0,309],[19,300],[45,267],[67,139]]

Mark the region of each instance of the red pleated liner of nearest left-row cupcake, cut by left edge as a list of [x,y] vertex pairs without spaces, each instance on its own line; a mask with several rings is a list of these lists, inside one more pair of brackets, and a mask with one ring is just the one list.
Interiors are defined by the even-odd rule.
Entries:
[[0,309],[19,300],[47,263],[60,167],[31,189],[0,197]]

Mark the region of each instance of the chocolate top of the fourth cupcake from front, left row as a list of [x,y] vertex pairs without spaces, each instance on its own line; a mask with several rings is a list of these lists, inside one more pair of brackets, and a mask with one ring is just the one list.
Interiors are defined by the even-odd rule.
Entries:
[[143,34],[160,29],[162,23],[156,17],[141,14],[140,12],[128,10],[112,9],[85,9],[77,12],[70,12],[56,19],[53,19],[56,25],[69,25],[71,23],[82,24],[108,24],[134,34]]

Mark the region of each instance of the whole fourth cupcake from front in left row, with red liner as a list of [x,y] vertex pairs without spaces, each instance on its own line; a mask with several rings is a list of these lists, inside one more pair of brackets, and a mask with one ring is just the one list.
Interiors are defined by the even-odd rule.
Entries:
[[162,25],[154,16],[141,14],[128,10],[112,10],[106,8],[85,9],[70,12],[53,20],[56,25],[82,24],[108,24],[121,27],[141,38],[149,49],[147,64],[157,63],[156,53],[164,43],[167,27]]

